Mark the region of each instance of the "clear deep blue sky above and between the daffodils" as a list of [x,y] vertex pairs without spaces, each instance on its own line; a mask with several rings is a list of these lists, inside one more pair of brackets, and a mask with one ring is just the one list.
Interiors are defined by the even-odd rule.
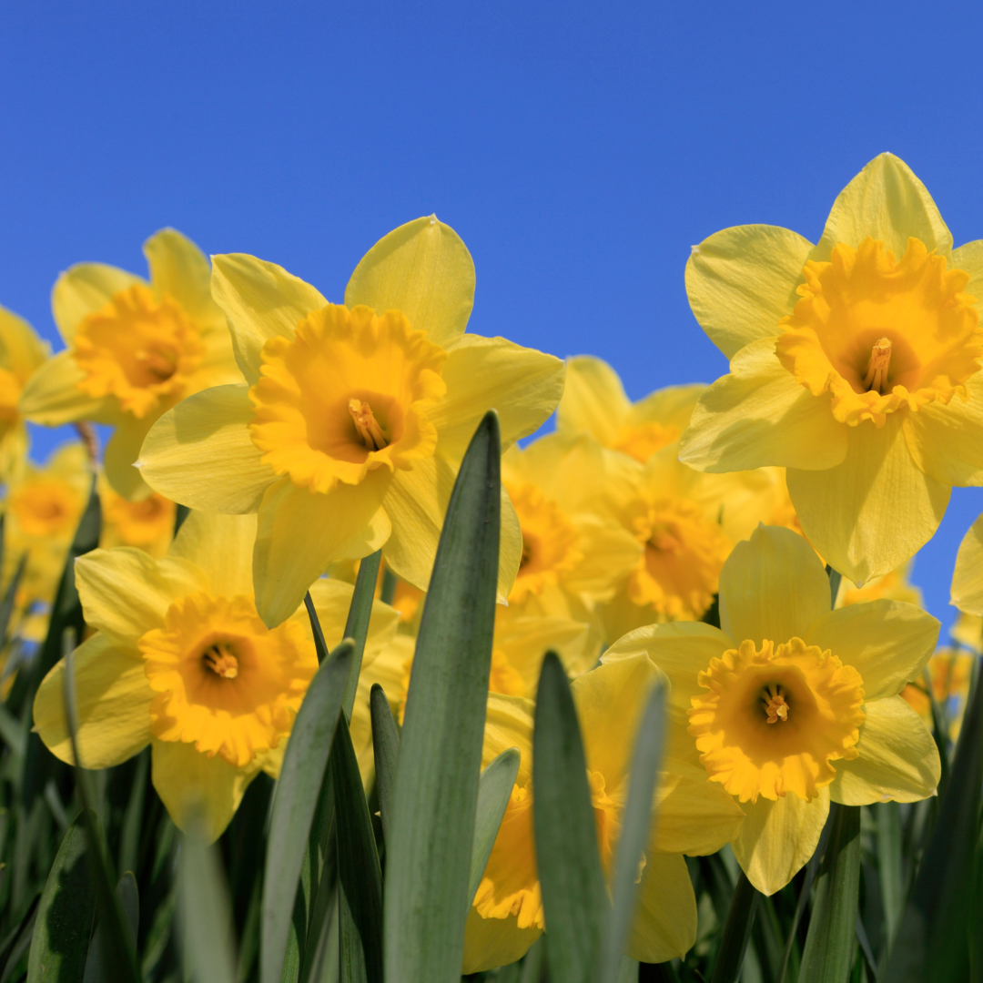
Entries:
[[[164,225],[340,300],[379,236],[436,212],[477,265],[473,330],[599,355],[634,398],[710,381],[683,267],[712,232],[815,241],[892,150],[957,244],[983,238],[981,29],[961,3],[9,0],[0,303],[54,340],[58,272],[142,272]],[[918,558],[947,621],[981,510],[954,492]]]

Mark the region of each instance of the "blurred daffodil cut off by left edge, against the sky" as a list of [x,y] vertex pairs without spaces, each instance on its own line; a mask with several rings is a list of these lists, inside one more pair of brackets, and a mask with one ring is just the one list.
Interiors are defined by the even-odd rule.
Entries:
[[16,477],[28,454],[28,431],[18,407],[48,346],[24,318],[0,307],[0,482]]

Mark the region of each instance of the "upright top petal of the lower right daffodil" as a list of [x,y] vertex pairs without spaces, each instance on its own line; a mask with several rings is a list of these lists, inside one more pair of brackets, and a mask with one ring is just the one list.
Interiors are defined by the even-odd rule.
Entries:
[[829,609],[823,563],[790,529],[759,526],[723,564],[721,628],[737,644],[801,638]]

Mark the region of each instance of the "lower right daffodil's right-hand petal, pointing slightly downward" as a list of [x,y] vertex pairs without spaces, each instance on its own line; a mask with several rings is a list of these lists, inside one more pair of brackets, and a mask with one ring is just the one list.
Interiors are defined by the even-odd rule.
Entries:
[[859,757],[836,762],[830,797],[843,805],[917,802],[939,784],[941,763],[935,740],[921,718],[899,696],[865,703]]

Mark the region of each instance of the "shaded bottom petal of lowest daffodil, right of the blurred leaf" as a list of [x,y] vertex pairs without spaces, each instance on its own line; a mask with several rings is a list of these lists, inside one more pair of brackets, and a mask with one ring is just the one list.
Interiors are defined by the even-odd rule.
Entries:
[[678,853],[649,853],[625,952],[639,962],[685,955],[696,942],[696,896]]

